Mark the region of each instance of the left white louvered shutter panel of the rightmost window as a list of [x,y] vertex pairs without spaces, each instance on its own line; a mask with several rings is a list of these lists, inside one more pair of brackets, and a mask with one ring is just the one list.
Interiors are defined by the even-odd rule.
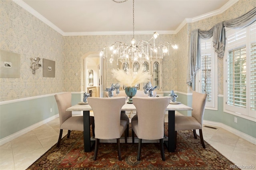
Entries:
[[234,112],[246,115],[246,28],[230,30],[226,43],[228,48],[226,104],[235,107],[231,109]]

